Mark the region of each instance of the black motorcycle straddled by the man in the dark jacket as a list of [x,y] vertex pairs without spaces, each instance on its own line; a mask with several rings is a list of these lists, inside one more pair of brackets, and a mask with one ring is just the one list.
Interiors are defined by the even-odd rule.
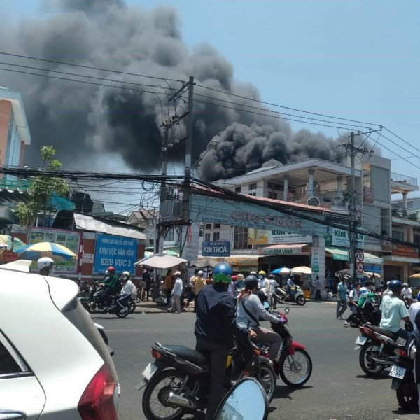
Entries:
[[[272,361],[260,356],[258,347],[248,339],[237,339],[228,354],[224,388],[228,391],[244,377],[255,377],[271,402],[276,387]],[[207,407],[209,360],[186,346],[152,346],[154,362],[142,372],[142,407],[148,420],[181,419],[184,414]]]

